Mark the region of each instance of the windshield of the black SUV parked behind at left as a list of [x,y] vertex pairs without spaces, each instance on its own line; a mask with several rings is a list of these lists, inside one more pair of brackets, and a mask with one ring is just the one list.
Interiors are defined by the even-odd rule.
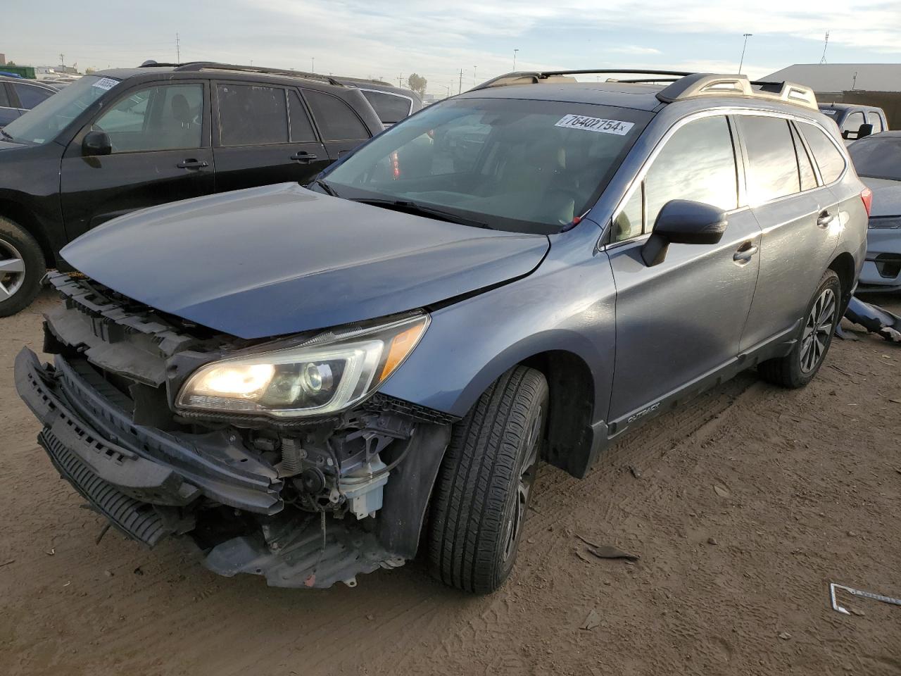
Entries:
[[43,145],[53,141],[88,105],[119,80],[86,75],[4,127],[14,141]]

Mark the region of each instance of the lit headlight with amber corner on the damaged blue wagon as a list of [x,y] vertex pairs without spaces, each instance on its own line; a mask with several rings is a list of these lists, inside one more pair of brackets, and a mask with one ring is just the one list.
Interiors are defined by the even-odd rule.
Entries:
[[415,315],[374,328],[322,333],[282,350],[214,361],[191,375],[176,407],[278,418],[341,411],[385,382],[428,325],[428,315]]

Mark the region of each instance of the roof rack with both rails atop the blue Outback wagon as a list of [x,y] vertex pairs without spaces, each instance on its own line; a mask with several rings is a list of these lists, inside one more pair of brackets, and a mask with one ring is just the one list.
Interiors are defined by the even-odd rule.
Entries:
[[794,82],[750,80],[746,75],[689,73],[684,70],[587,69],[516,71],[483,82],[470,91],[487,89],[489,87],[504,87],[506,85],[576,82],[576,78],[572,77],[574,75],[599,74],[662,76],[661,78],[607,78],[606,81],[628,84],[669,83],[667,87],[664,87],[657,93],[657,98],[666,104],[697,96],[750,96],[751,98],[764,98],[784,104],[802,105],[805,108],[817,110],[814,90],[804,85],[797,85]]

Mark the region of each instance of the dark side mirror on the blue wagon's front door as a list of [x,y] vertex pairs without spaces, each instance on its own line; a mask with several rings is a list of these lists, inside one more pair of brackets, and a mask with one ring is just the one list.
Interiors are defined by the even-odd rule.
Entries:
[[660,265],[669,244],[716,244],[723,239],[726,225],[723,209],[689,199],[671,199],[657,215],[651,238],[642,247],[642,260],[649,268]]

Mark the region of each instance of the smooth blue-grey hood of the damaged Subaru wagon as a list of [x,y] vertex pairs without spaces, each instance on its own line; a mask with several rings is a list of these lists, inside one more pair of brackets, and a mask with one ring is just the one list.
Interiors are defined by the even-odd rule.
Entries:
[[286,183],[124,215],[62,256],[141,303],[261,338],[469,294],[528,274],[549,246]]

